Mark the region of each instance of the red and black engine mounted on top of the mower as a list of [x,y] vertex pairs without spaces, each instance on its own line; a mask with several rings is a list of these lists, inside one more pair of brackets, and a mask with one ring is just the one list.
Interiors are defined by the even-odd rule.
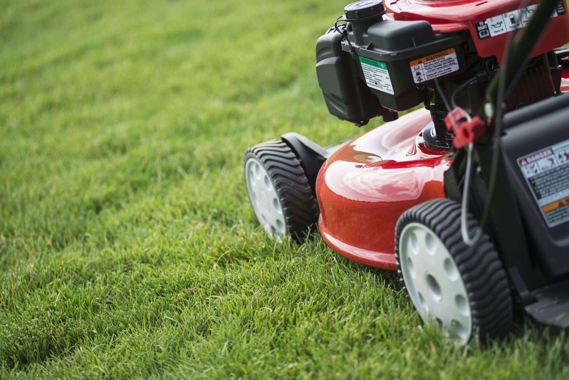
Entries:
[[[529,26],[538,9],[519,7],[519,0],[399,0],[387,6],[364,0],[346,6],[316,43],[316,73],[329,112],[360,126],[376,116],[395,120],[399,111],[424,103],[433,124],[423,137],[450,149],[453,131],[444,125],[444,104],[478,111],[504,61],[508,32]],[[569,19],[561,17],[566,12],[560,0],[547,34],[508,89],[505,111],[559,93],[563,68],[555,49],[569,41]],[[435,91],[435,81],[446,99]]]

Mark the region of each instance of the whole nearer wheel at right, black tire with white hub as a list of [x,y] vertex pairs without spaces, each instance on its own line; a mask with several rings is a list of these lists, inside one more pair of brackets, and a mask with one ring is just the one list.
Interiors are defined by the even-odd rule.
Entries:
[[[423,321],[435,321],[457,344],[475,336],[503,337],[512,325],[508,277],[488,236],[469,247],[460,232],[460,205],[434,199],[407,210],[395,227],[395,258]],[[468,215],[468,231],[477,226]]]

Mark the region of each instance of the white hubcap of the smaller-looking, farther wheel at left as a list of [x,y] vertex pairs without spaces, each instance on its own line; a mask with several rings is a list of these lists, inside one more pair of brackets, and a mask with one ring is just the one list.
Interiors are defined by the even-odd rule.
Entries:
[[245,162],[245,182],[255,215],[265,231],[277,238],[285,235],[286,222],[281,201],[269,172],[261,161],[249,158]]

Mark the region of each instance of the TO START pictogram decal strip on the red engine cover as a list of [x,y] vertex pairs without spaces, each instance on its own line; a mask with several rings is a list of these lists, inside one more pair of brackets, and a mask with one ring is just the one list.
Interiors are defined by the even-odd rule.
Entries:
[[[485,39],[504,34],[519,28],[525,28],[535,15],[538,5],[530,5],[522,9],[506,12],[487,18],[474,24],[479,39]],[[551,14],[551,18],[564,15],[565,2],[560,0]]]

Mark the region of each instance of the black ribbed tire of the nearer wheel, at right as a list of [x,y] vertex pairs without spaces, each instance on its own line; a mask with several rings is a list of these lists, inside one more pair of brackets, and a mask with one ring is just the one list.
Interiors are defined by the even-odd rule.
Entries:
[[[467,304],[469,305],[472,329],[470,333],[465,333],[466,338],[462,343],[467,343],[475,338],[475,336],[479,336],[480,341],[485,343],[488,338],[504,337],[509,333],[512,328],[513,320],[513,297],[504,265],[488,236],[483,234],[472,247],[468,247],[463,242],[460,232],[460,214],[461,209],[459,203],[450,199],[434,199],[407,210],[401,215],[395,227],[395,259],[397,260],[397,267],[399,269],[398,273],[403,283],[405,283],[406,291],[409,293],[415,308],[419,310],[421,307],[420,301],[423,301],[423,299],[422,297],[418,298],[418,305],[414,301],[413,294],[410,291],[410,288],[417,285],[410,284],[415,281],[413,277],[419,276],[417,276],[412,262],[410,264],[405,263],[407,260],[406,255],[409,254],[402,255],[403,252],[401,249],[405,243],[401,241],[401,237],[402,232],[407,226],[409,226],[409,228],[407,228],[406,234],[413,234],[412,228],[419,227],[417,224],[411,226],[410,223],[419,223],[434,232],[436,237],[440,239],[440,242],[444,244],[444,247],[447,248],[448,254],[452,257],[455,264],[454,268],[457,269],[460,275],[460,278],[456,280],[463,282],[466,294],[468,295]],[[468,215],[467,224],[468,231],[471,231],[470,235],[474,235],[473,231],[478,223],[471,214]],[[428,234],[428,231],[426,234]],[[411,238],[413,238],[413,236],[411,236]],[[403,240],[405,239],[407,239],[407,235]],[[411,242],[411,240],[413,239],[409,239],[408,241]],[[405,246],[405,249],[412,250],[413,247],[411,246],[412,244],[409,243]],[[414,253],[414,255],[417,254]],[[407,283],[404,277],[406,277],[405,273],[410,273],[409,268],[402,268],[402,265],[403,267],[405,267],[405,265],[411,265],[411,269],[414,271],[412,275],[407,275],[410,279]],[[428,276],[427,271],[429,269],[425,268],[428,267],[428,265],[438,264],[423,265],[420,270],[426,273],[424,275],[425,277]],[[419,283],[419,281],[421,280],[418,279],[417,283]],[[425,283],[427,283],[427,281],[425,281]],[[451,296],[447,297],[447,299],[452,299],[451,291],[449,291],[449,294],[451,294]],[[417,292],[415,295],[417,295]],[[417,299],[417,297],[415,297],[415,299]],[[424,308],[425,303],[422,305]],[[464,310],[465,309],[463,309],[463,314],[467,313],[464,312]],[[431,312],[428,312],[428,309],[427,314],[431,317]],[[437,320],[440,322],[438,318]]]

